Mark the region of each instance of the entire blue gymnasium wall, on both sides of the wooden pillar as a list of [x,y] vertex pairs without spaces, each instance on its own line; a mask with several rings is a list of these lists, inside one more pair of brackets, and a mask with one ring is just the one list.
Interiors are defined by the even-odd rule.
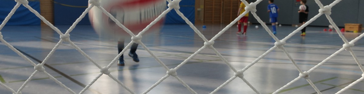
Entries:
[[[55,25],[72,25],[77,18],[84,12],[87,8],[88,0],[49,0],[54,5],[54,14],[52,13],[41,13],[44,17],[48,17],[51,23]],[[44,2],[42,2],[44,4]],[[1,0],[0,3],[0,21],[4,21],[5,17],[9,14],[11,9],[15,6],[16,2],[14,0]],[[29,5],[40,12],[40,1],[33,0],[29,1]],[[47,6],[52,4],[45,4]],[[167,7],[167,5],[166,5]],[[195,21],[195,0],[182,0],[180,2],[179,9],[184,16],[186,16],[192,23]],[[43,8],[49,9],[49,8]],[[51,10],[52,11],[52,10]],[[166,15],[166,24],[186,24],[186,22],[175,12],[171,12]],[[7,22],[7,25],[40,25],[40,19],[31,13],[27,8],[21,5]],[[88,15],[86,15],[78,25],[90,25]]]

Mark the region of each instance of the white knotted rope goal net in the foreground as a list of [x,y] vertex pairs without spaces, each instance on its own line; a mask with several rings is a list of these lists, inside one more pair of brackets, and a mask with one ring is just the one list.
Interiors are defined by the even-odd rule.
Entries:
[[[23,88],[29,83],[29,81],[32,80],[32,78],[35,76],[35,74],[37,74],[38,72],[43,72],[44,74],[46,74],[49,78],[51,78],[51,80],[55,81],[57,84],[59,84],[60,86],[62,86],[64,89],[66,89],[67,91],[69,91],[71,94],[76,94],[72,89],[68,88],[66,85],[62,84],[62,82],[58,81],[55,77],[53,77],[51,74],[47,73],[47,71],[45,70],[45,68],[43,67],[43,65],[47,62],[47,60],[52,56],[52,54],[57,50],[57,48],[59,47],[60,44],[62,44],[62,42],[69,42],[77,51],[79,51],[82,55],[84,55],[85,57],[87,57],[87,59],[89,59],[92,63],[94,63],[99,69],[100,69],[100,73],[98,76],[95,77],[94,80],[92,80],[82,91],[80,91],[78,94],[83,94],[84,91],[86,91],[88,89],[88,87],[90,87],[92,84],[94,84],[94,82],[96,80],[98,80],[98,78],[100,76],[102,76],[103,74],[108,75],[110,78],[112,78],[113,80],[115,80],[116,82],[118,82],[118,84],[120,84],[122,87],[124,87],[127,91],[129,91],[131,94],[136,94],[133,90],[129,89],[127,86],[125,86],[122,82],[120,82],[117,78],[115,78],[114,76],[112,76],[110,74],[110,71],[108,70],[112,64],[114,64],[116,62],[116,60],[118,60],[118,58],[128,49],[130,48],[132,43],[139,43],[147,52],[149,52],[149,54],[151,56],[153,56],[155,58],[155,60],[158,61],[159,64],[161,64],[163,66],[163,68],[166,69],[167,74],[162,77],[158,82],[156,82],[154,85],[152,85],[149,89],[145,90],[143,93],[141,94],[146,94],[148,93],[150,90],[152,90],[154,87],[156,87],[157,85],[159,85],[163,80],[165,80],[166,78],[168,78],[169,76],[173,76],[174,78],[176,78],[179,82],[181,82],[181,84],[183,86],[185,86],[187,88],[187,90],[189,90],[191,93],[193,94],[197,94],[191,87],[189,87],[189,85],[187,85],[181,78],[178,77],[177,75],[177,70],[179,68],[181,68],[183,65],[185,65],[187,63],[187,61],[189,61],[190,59],[192,59],[194,56],[196,56],[197,54],[199,54],[202,50],[206,49],[206,48],[210,48],[211,50],[213,50],[217,56],[219,56],[223,62],[226,63],[226,65],[228,65],[233,71],[234,71],[234,75],[232,75],[232,77],[227,80],[226,82],[224,82],[222,85],[218,86],[214,91],[212,91],[210,94],[214,94],[217,91],[219,91],[220,89],[222,89],[225,85],[229,84],[229,82],[231,82],[232,80],[236,79],[237,77],[239,77],[240,79],[242,79],[252,90],[254,90],[257,94],[260,94],[259,90],[256,89],[253,85],[251,85],[249,83],[249,81],[247,81],[244,78],[244,72],[252,67],[254,64],[256,64],[259,60],[261,60],[264,56],[268,55],[268,53],[272,52],[274,49],[279,48],[282,51],[284,51],[284,53],[288,56],[289,60],[292,61],[292,64],[297,68],[297,71],[300,72],[297,76],[297,78],[295,78],[294,80],[290,81],[288,84],[282,86],[280,89],[276,90],[273,92],[273,94],[277,94],[280,91],[284,90],[286,87],[290,86],[291,84],[293,84],[294,82],[298,81],[301,78],[304,78],[307,80],[307,82],[313,87],[313,89],[318,93],[321,94],[320,90],[317,89],[317,87],[315,86],[315,84],[310,80],[310,75],[309,73],[313,72],[315,69],[317,69],[318,67],[320,67],[321,65],[323,65],[324,63],[326,63],[328,60],[330,60],[332,57],[338,55],[340,52],[347,50],[351,53],[351,55],[353,56],[353,58],[355,59],[356,63],[359,65],[359,68],[361,69],[361,71],[363,72],[362,77],[359,78],[358,80],[352,82],[351,84],[349,84],[348,86],[346,86],[345,88],[341,89],[340,91],[338,91],[336,94],[340,94],[343,91],[351,88],[353,85],[357,84],[358,82],[362,81],[364,79],[364,68],[362,66],[362,64],[359,62],[359,60],[357,59],[356,55],[354,54],[353,50],[351,49],[351,47],[354,46],[354,43],[357,42],[359,39],[364,37],[364,34],[361,34],[359,37],[353,39],[351,42],[349,42],[344,36],[343,34],[340,32],[339,27],[336,26],[336,24],[333,22],[332,18],[330,17],[331,14],[331,8],[336,5],[337,3],[339,3],[341,0],[335,0],[333,3],[331,3],[330,5],[324,6],[323,4],[321,4],[320,0],[315,0],[316,3],[318,4],[318,6],[320,7],[320,9],[318,10],[319,13],[314,16],[313,18],[311,18],[309,21],[307,21],[305,24],[303,24],[302,26],[298,27],[296,30],[294,30],[292,33],[290,33],[287,37],[279,40],[268,28],[268,26],[266,26],[264,24],[264,22],[257,16],[257,14],[255,13],[256,10],[256,5],[259,4],[262,0],[257,0],[254,3],[248,3],[245,0],[242,0],[243,3],[246,5],[245,7],[245,12],[242,13],[240,16],[238,16],[234,21],[232,21],[229,25],[227,25],[224,29],[222,29],[217,35],[215,35],[211,40],[207,40],[203,34],[197,30],[197,28],[185,17],[183,16],[183,14],[179,11],[179,2],[181,0],[167,0],[169,2],[168,7],[160,16],[158,16],[158,18],[156,18],[153,22],[150,23],[150,25],[148,25],[145,29],[143,29],[139,34],[134,35],[130,30],[128,30],[125,26],[123,26],[118,20],[116,20],[110,13],[108,13],[103,7],[100,7],[100,1],[99,0],[89,0],[90,5],[88,6],[88,8],[82,13],[82,15],[72,24],[72,26],[66,31],[66,33],[61,33],[61,31],[56,28],[55,26],[53,26],[50,22],[48,22],[43,16],[41,16],[36,10],[34,10],[33,8],[31,8],[28,5],[28,1],[27,0],[15,0],[17,2],[17,4],[15,5],[15,7],[11,10],[11,12],[8,14],[8,16],[5,18],[5,20],[3,21],[3,23],[0,25],[0,31],[1,29],[5,26],[5,24],[7,23],[7,21],[11,18],[11,16],[14,14],[14,12],[16,11],[17,8],[19,8],[19,6],[22,4],[24,5],[26,8],[28,8],[31,12],[33,12],[34,14],[36,14],[37,17],[39,17],[43,22],[45,22],[48,26],[50,26],[53,30],[55,30],[59,35],[60,35],[60,40],[59,42],[55,45],[55,47],[52,49],[52,51],[47,55],[47,57],[40,63],[40,64],[36,64],[34,63],[32,60],[30,60],[28,57],[26,57],[25,55],[21,54],[21,52],[19,52],[18,50],[16,50],[13,46],[11,46],[7,41],[5,41],[3,39],[3,35],[1,35],[0,32],[0,41],[2,43],[4,43],[6,46],[8,46],[9,48],[11,48],[14,52],[16,52],[19,56],[21,56],[23,59],[27,60],[31,65],[34,66],[35,71],[31,74],[31,76],[24,82],[24,84],[17,90],[13,90],[12,88],[10,88],[9,86],[5,85],[4,83],[0,82],[0,85],[5,87],[7,90],[11,91],[13,94],[21,94],[21,90],[23,90]],[[131,35],[131,42],[124,48],[124,50],[122,52],[120,52],[120,54],[118,54],[114,60],[111,61],[110,64],[108,64],[105,67],[100,66],[98,63],[96,63],[95,60],[93,60],[90,56],[88,56],[85,52],[83,52],[76,44],[74,44],[71,39],[70,39],[70,32],[75,28],[75,26],[77,25],[77,23],[86,15],[86,13],[88,13],[90,11],[90,9],[92,7],[96,7],[98,9],[100,9],[104,14],[106,14],[108,17],[110,17],[113,21],[116,22],[116,24],[120,27],[122,27],[122,29],[124,29],[128,34]],[[145,46],[145,44],[143,44],[141,42],[142,39],[142,35],[145,33],[145,31],[147,31],[151,26],[153,26],[156,22],[158,22],[159,20],[161,20],[162,17],[164,17],[168,12],[170,12],[170,10],[175,9],[175,11],[178,13],[179,16],[181,16],[183,18],[183,20],[186,21],[186,23],[188,25],[190,25],[190,27],[195,31],[195,33],[197,33],[199,35],[199,37],[201,37],[203,39],[203,41],[205,41],[204,46],[202,46],[198,51],[196,51],[194,54],[192,54],[190,57],[188,57],[186,60],[184,60],[181,64],[179,64],[177,67],[175,68],[168,68],[163,61],[159,60],[157,56],[155,56],[153,54],[152,51],[149,50],[149,48],[147,48],[147,46]],[[272,36],[272,38],[274,40],[276,40],[276,42],[274,43],[275,46],[273,46],[272,48],[270,48],[268,51],[266,51],[264,54],[262,54],[261,56],[259,56],[256,60],[252,61],[252,63],[250,63],[249,65],[247,65],[245,68],[237,70],[235,69],[230,63],[229,61],[227,61],[214,47],[214,40],[217,39],[220,35],[222,35],[227,29],[229,29],[232,25],[234,25],[234,23],[236,23],[241,17],[243,17],[246,13],[251,12],[253,14],[253,16],[258,20],[258,22],[264,27],[264,29],[269,33],[270,36]],[[288,51],[285,49],[284,45],[286,43],[286,40],[288,40],[289,38],[291,38],[294,34],[296,34],[298,31],[300,31],[303,27],[309,25],[311,22],[313,22],[314,20],[316,20],[318,17],[320,17],[321,15],[325,14],[325,16],[327,17],[327,19],[329,20],[329,22],[331,23],[331,25],[333,25],[333,27],[335,28],[336,32],[339,34],[340,38],[342,38],[342,40],[344,41],[343,47],[336,51],[334,54],[332,54],[331,56],[327,57],[325,60],[321,61],[320,63],[318,63],[317,65],[315,65],[313,68],[309,69],[308,71],[303,71],[300,69],[300,67],[298,67],[297,63],[293,60],[293,58],[289,55]]]

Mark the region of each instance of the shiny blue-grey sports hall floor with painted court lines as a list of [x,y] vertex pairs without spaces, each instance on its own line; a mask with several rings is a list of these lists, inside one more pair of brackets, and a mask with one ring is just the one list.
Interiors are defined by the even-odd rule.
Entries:
[[[70,26],[56,26],[65,32]],[[196,26],[207,39],[211,39],[225,25],[207,25],[203,30]],[[271,27],[271,26],[268,26]],[[339,50],[343,40],[336,32],[322,31],[327,27],[308,27],[305,37],[299,34],[287,40],[285,45],[289,54],[307,71],[314,65]],[[282,39],[296,27],[277,28],[277,37]],[[233,26],[213,45],[236,69],[242,69],[258,56],[274,46],[274,40],[260,26],[250,25],[248,35],[237,35]],[[2,30],[4,39],[23,52],[35,63],[40,63],[60,40],[59,35],[49,27],[40,26],[5,26]],[[70,33],[70,39],[101,66],[108,65],[117,55],[114,40],[99,38],[90,25],[77,25]],[[345,33],[352,40],[361,33]],[[130,42],[130,38],[127,38]],[[364,40],[361,39],[353,50],[360,62],[364,62]],[[203,40],[188,25],[165,25],[159,33],[143,35],[142,42],[159,57],[169,68],[174,68],[203,46]],[[125,43],[127,45],[127,43]],[[128,52],[128,51],[127,51]],[[151,85],[166,75],[166,70],[141,46],[137,54],[140,62],[135,63],[125,55],[125,66],[116,63],[110,68],[111,74],[137,94],[143,93]],[[69,43],[62,45],[46,63],[46,71],[64,85],[79,93],[91,82],[99,69],[81,55]],[[3,43],[0,44],[0,81],[15,91],[20,88],[34,72],[34,68]],[[230,69],[214,52],[205,49],[193,57],[177,71],[178,76],[198,94],[211,93],[218,86],[233,76]],[[280,49],[269,53],[246,72],[244,77],[260,93],[270,94],[298,77],[298,71]],[[320,68],[310,73],[310,79],[323,94],[333,94],[361,77],[361,71],[348,51],[341,52]],[[344,94],[363,94],[364,82],[359,82]],[[49,79],[44,73],[37,73],[33,80],[22,90],[23,94],[70,94],[60,85]],[[280,94],[315,94],[314,89],[305,79],[295,82],[282,90]],[[12,94],[0,86],[0,94]],[[107,75],[101,76],[84,94],[130,94]],[[174,77],[168,77],[148,94],[191,94]],[[254,94],[239,78],[236,78],[216,94]]]

